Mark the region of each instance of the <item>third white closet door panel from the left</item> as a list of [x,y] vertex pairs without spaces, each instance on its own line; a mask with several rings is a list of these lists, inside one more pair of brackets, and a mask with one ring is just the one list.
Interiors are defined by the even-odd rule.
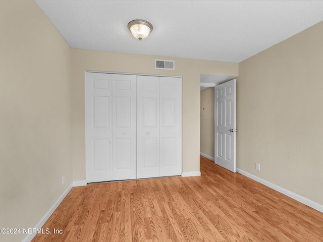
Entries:
[[159,174],[159,77],[137,76],[137,178]]

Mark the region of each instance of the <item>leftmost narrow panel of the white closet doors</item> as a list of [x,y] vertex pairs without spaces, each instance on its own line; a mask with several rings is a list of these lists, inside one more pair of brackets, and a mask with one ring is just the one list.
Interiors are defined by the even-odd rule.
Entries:
[[86,181],[112,179],[112,75],[85,73]]

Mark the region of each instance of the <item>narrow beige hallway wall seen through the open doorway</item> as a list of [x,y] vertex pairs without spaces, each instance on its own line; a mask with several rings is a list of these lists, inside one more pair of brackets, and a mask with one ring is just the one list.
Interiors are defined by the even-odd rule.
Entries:
[[200,152],[214,158],[214,88],[201,91]]

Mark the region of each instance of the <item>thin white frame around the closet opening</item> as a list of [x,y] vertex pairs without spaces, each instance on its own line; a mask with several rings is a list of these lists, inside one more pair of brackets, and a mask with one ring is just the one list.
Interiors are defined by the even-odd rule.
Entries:
[[[180,161],[180,170],[181,174],[183,174],[183,77],[182,76],[173,76],[173,75],[157,75],[157,74],[142,74],[142,73],[123,73],[123,72],[106,72],[106,71],[91,71],[91,70],[85,70],[84,71],[84,97],[85,97],[85,87],[86,87],[86,80],[85,80],[85,73],[106,73],[106,74],[122,74],[122,75],[137,75],[137,76],[154,76],[154,77],[176,77],[181,78],[181,161]],[[84,100],[85,102],[85,100]],[[87,154],[86,154],[86,141],[87,141],[87,135],[86,135],[86,103],[84,103],[84,122],[85,122],[85,179],[86,183],[88,184],[88,175],[87,175]]]

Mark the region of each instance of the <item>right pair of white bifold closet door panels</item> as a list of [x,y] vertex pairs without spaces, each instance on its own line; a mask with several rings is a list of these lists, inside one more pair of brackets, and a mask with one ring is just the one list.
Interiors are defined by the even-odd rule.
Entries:
[[181,82],[137,76],[137,178],[181,174]]

